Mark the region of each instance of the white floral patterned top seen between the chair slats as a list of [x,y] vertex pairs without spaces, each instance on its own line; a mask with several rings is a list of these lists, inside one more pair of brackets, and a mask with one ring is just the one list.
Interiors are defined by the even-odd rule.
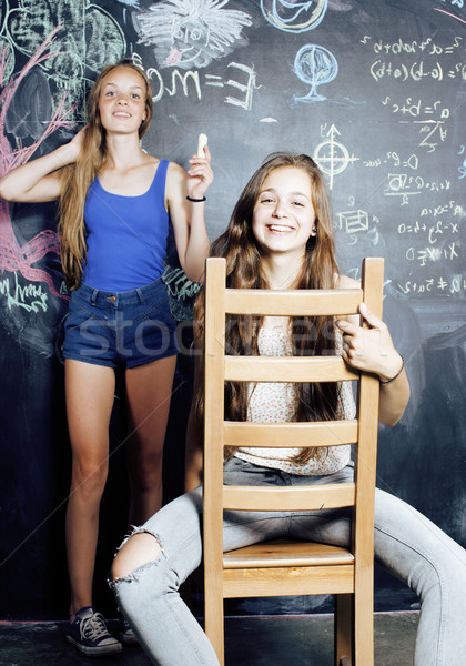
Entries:
[[[259,332],[259,353],[263,356],[291,356],[290,335],[283,329],[263,326]],[[337,336],[337,351],[341,350],[341,336]],[[354,418],[356,407],[351,382],[342,382],[338,393],[336,418]],[[249,387],[250,402],[247,421],[261,423],[285,423],[294,421],[297,393],[292,382],[260,382]],[[306,463],[298,464],[293,458],[300,448],[237,448],[236,457],[263,467],[283,470],[290,474],[312,476],[333,474],[350,462],[351,446],[328,446],[315,448],[315,455]]]

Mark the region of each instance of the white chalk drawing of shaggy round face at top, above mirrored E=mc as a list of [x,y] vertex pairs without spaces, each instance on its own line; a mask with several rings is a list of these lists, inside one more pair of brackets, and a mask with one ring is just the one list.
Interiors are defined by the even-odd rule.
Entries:
[[207,67],[247,40],[250,14],[225,9],[229,0],[164,0],[134,12],[139,43],[154,46],[160,67]]

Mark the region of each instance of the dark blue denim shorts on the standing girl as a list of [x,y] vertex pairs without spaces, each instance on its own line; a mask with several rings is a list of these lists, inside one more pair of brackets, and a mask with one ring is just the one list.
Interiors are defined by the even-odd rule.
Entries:
[[164,282],[128,292],[81,284],[71,293],[63,356],[109,367],[135,367],[179,349]]

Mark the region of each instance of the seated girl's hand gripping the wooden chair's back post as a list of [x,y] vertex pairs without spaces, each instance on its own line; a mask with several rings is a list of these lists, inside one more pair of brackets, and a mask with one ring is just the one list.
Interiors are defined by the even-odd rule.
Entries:
[[336,325],[342,331],[342,357],[357,370],[372,372],[382,381],[391,380],[399,371],[403,360],[395,350],[387,325],[361,303],[359,313],[367,327],[344,320]]

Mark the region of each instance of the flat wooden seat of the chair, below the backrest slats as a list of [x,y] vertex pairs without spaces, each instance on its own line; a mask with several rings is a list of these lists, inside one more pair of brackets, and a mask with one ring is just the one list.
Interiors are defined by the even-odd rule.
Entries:
[[314,542],[262,542],[223,554],[223,568],[267,568],[354,564],[347,548]]

